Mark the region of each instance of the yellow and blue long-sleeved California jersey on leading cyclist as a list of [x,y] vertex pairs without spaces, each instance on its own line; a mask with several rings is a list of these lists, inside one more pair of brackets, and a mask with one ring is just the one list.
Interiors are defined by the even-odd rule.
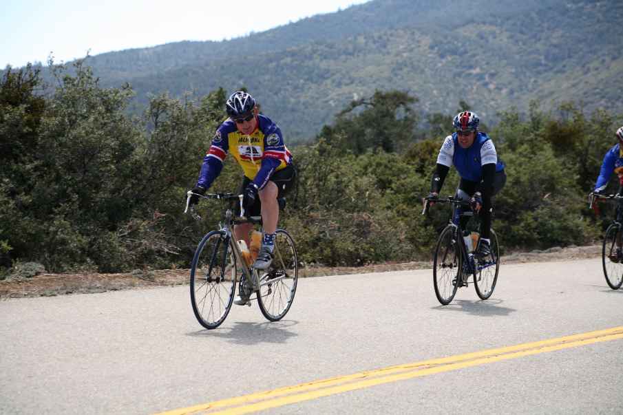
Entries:
[[244,136],[231,119],[218,127],[212,146],[203,160],[197,186],[208,189],[220,174],[227,151],[240,164],[244,175],[262,189],[275,171],[292,162],[279,126],[263,115],[257,116],[257,129]]

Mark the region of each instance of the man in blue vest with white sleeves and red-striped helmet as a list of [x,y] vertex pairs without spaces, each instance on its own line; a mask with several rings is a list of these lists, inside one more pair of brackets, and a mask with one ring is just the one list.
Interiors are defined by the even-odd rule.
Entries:
[[[463,111],[454,117],[452,124],[456,132],[447,136],[441,145],[430,194],[439,197],[443,181],[454,165],[461,176],[455,197],[472,202],[481,217],[481,242],[474,256],[485,257],[491,252],[491,198],[504,187],[506,172],[492,140],[478,131],[480,118],[476,114]],[[467,222],[469,217],[462,217],[462,220]]]

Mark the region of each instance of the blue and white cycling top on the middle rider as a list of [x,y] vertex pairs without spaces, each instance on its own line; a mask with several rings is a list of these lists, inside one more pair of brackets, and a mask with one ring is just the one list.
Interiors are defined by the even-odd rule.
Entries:
[[437,162],[458,171],[462,179],[480,182],[483,178],[483,165],[496,164],[496,171],[504,169],[504,163],[498,159],[498,153],[492,140],[485,133],[478,133],[471,146],[464,149],[458,145],[456,133],[443,141]]

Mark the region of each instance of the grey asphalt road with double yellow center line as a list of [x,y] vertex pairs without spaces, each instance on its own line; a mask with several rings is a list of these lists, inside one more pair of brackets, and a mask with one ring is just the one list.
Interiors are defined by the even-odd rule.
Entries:
[[0,301],[0,413],[623,412],[600,259],[503,264],[491,299],[449,306],[414,270],[301,279],[277,323],[233,307],[203,330],[188,286]]

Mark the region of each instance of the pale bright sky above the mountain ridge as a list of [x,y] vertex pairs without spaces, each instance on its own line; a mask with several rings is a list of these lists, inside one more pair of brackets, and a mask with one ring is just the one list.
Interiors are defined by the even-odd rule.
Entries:
[[0,0],[0,68],[178,41],[222,41],[368,0]]

